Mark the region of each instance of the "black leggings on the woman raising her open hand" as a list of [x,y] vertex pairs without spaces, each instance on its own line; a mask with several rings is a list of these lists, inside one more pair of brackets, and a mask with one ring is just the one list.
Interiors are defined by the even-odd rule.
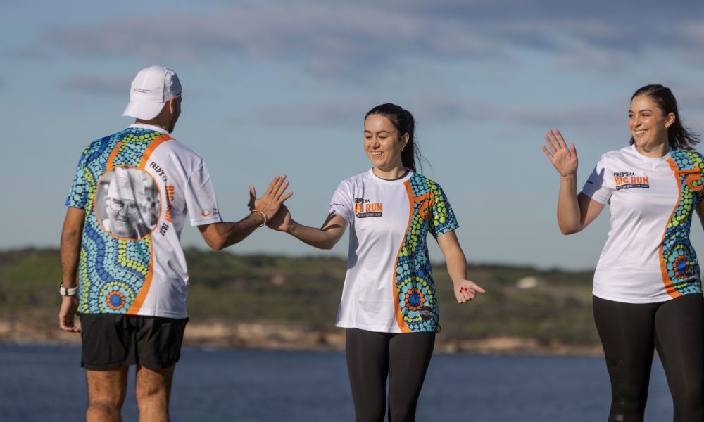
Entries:
[[674,402],[674,422],[704,421],[704,301],[700,294],[660,303],[593,298],[594,321],[611,378],[609,422],[643,421],[653,347]]

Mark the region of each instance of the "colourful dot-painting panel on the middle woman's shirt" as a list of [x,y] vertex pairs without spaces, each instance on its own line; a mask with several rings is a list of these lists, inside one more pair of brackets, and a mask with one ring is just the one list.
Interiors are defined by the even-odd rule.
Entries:
[[440,236],[456,229],[457,222],[434,181],[415,173],[406,181],[406,188],[413,215],[396,260],[398,307],[410,331],[440,331],[426,238],[428,231]]

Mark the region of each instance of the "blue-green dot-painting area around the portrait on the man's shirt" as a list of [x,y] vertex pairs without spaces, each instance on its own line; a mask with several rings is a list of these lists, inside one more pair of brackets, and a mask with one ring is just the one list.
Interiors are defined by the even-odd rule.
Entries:
[[[83,153],[67,205],[86,210],[80,253],[80,305],[86,314],[124,314],[149,275],[151,237],[121,240],[108,234],[94,212],[96,186],[110,166],[139,166],[144,151],[160,136],[129,128],[91,143]],[[108,162],[111,159],[112,162]],[[82,178],[82,181],[80,180]]]

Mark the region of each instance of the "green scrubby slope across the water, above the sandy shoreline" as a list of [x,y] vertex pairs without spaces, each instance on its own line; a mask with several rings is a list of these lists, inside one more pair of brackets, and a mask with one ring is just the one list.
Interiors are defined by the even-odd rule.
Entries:
[[[337,258],[239,256],[188,250],[191,321],[288,322],[331,328],[337,313],[345,261]],[[458,305],[444,265],[434,266],[441,324],[446,338],[499,335],[557,339],[572,345],[598,342],[591,317],[591,271],[540,271],[530,267],[477,265],[470,279],[489,290]],[[541,279],[529,290],[525,276]],[[54,326],[61,280],[57,250],[0,252],[0,320]]]

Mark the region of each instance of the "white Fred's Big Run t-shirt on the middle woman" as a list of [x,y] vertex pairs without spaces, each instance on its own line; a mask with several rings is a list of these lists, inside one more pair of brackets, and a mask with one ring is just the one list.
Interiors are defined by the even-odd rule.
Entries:
[[369,170],[341,182],[330,214],[350,225],[336,325],[385,333],[440,331],[426,238],[458,228],[440,186],[410,170],[391,181]]

